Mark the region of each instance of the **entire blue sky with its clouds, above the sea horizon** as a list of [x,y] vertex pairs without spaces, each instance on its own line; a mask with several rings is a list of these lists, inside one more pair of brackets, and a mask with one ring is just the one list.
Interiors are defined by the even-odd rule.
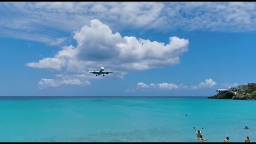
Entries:
[[[253,83],[255,8],[1,2],[0,96],[211,96]],[[101,66],[119,72],[81,71]]]

